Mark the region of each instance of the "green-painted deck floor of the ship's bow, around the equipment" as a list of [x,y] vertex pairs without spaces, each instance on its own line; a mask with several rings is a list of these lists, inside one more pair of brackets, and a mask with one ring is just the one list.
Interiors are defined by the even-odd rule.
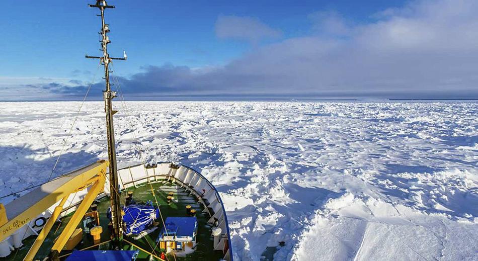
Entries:
[[[189,196],[189,192],[186,192],[185,189],[181,188],[178,185],[172,184],[172,183],[152,183],[151,184],[154,193],[156,195],[156,199],[158,204],[160,204],[160,210],[163,215],[163,218],[166,219],[168,216],[186,216],[186,205],[191,205],[193,209],[196,209],[196,217],[198,220],[198,232],[196,236],[196,247],[195,251],[191,254],[188,254],[186,257],[179,257],[176,256],[176,260],[219,260],[223,257],[221,251],[214,251],[213,250],[213,238],[211,237],[211,232],[210,232],[210,226],[206,225],[207,220],[209,219],[208,215],[206,213],[202,213],[202,206],[199,205],[199,203],[196,202],[194,196]],[[129,188],[128,191],[133,192],[133,199],[135,200],[140,200],[140,201],[148,201],[151,200],[154,203],[154,197],[151,193],[151,186],[148,184],[140,185],[137,188]],[[172,205],[168,205],[166,203],[166,197],[169,192],[174,193],[174,203]],[[124,197],[123,195],[126,194],[126,191],[122,192],[122,204],[124,204]],[[102,242],[108,241],[110,234],[108,231],[108,223],[109,220],[106,217],[106,210],[108,209],[110,205],[110,200],[109,198],[103,198],[99,201],[98,203],[98,212],[100,213],[100,225],[103,227],[103,233],[101,234],[101,240]],[[55,225],[53,226],[52,230],[48,234],[47,239],[45,242],[42,244],[40,250],[38,251],[37,255],[35,258],[37,259],[43,259],[46,255],[48,255],[51,246],[53,246],[53,240],[56,238],[63,228],[66,226],[66,223],[70,219],[72,213],[68,214],[67,216],[63,217],[62,222],[56,222]],[[158,228],[150,233],[149,235],[146,235],[138,240],[134,240],[129,237],[125,237],[126,240],[138,245],[139,247],[153,252],[152,250],[154,249],[154,253],[157,256],[161,255],[161,250],[159,249],[159,245],[156,247],[156,238],[158,234],[161,231],[161,228],[163,227],[163,222],[161,222],[160,219],[157,219],[157,221],[160,223],[158,225]],[[82,224],[79,224],[78,227],[80,227]],[[30,248],[31,244],[35,240],[34,236],[30,236],[29,238],[23,240],[24,246],[20,247],[20,249],[14,250],[9,256],[5,258],[0,258],[0,260],[22,260],[23,257],[27,254],[28,249]],[[85,247],[93,245],[93,239],[90,235],[84,233],[83,235],[83,242],[79,243],[76,248],[77,249],[83,249]],[[100,245],[99,247],[93,247],[90,248],[91,250],[94,249],[109,249],[110,244],[105,243]],[[133,249],[135,250],[136,248],[127,244],[125,242],[124,249]],[[68,251],[62,251],[60,253],[61,255],[67,254]],[[174,260],[174,257],[172,255],[167,255],[169,260]],[[145,252],[140,251],[140,254],[138,255],[137,260],[147,260],[149,258],[149,255]]]

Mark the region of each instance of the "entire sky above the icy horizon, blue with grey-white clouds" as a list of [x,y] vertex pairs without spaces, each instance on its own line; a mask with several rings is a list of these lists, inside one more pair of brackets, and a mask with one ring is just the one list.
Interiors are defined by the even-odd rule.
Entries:
[[[98,12],[88,3],[3,3],[3,100],[81,96],[97,67],[84,55],[100,52]],[[453,33],[456,41],[446,40],[456,26],[475,21],[470,14],[476,8],[472,1],[108,3],[116,6],[106,14],[112,31],[110,55],[121,56],[123,49],[128,53],[126,62],[115,63],[115,74],[126,92],[138,99],[151,95],[399,97],[410,90],[425,97],[436,95],[437,88],[446,97],[456,95],[453,84],[460,95],[476,94],[470,58],[478,52],[460,48],[460,43],[475,43],[471,28]],[[449,42],[437,45],[443,39]],[[443,52],[448,62],[438,68]],[[404,57],[420,61],[423,67]],[[368,70],[357,71],[363,68]],[[437,79],[437,73],[447,75]],[[99,81],[97,77],[94,87],[101,89]]]

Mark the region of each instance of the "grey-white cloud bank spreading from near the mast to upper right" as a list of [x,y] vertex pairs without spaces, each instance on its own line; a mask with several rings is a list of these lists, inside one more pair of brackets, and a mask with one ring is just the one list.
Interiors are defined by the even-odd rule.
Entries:
[[[310,35],[253,48],[224,66],[148,66],[119,81],[130,97],[476,98],[476,13],[478,2],[471,0],[413,2],[374,14],[368,24],[353,24],[335,12],[312,13]],[[280,36],[259,20],[230,16],[218,18],[216,33],[249,42]],[[74,84],[52,88],[65,94],[84,89]]]

